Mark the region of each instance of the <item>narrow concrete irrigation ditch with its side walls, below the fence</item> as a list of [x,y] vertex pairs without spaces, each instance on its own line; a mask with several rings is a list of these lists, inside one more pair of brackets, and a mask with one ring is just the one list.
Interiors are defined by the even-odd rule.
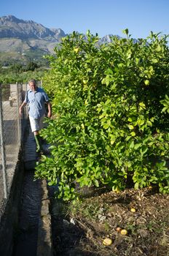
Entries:
[[47,181],[34,181],[36,145],[29,125],[23,149],[1,217],[0,255],[52,256]]

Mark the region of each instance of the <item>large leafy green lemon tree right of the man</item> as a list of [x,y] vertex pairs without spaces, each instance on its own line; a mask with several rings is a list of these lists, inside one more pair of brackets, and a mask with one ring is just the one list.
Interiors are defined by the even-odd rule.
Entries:
[[58,184],[58,196],[76,198],[76,186],[114,190],[157,184],[169,191],[168,37],[151,34],[135,42],[73,33],[49,56],[44,87],[53,118],[42,136],[51,156],[36,178]]

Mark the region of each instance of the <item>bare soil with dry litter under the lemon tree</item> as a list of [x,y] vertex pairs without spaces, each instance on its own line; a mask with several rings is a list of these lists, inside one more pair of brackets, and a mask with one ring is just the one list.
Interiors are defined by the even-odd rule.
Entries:
[[[169,195],[152,188],[96,189],[76,204],[53,200],[52,231],[54,255],[168,256]],[[103,245],[105,238],[112,244]]]

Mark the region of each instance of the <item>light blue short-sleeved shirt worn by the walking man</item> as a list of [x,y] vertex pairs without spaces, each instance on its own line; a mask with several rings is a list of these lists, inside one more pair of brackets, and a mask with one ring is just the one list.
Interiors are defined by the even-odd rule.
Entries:
[[49,102],[49,97],[42,88],[37,87],[36,91],[26,92],[24,102],[28,103],[29,116],[40,118],[46,112],[44,103]]

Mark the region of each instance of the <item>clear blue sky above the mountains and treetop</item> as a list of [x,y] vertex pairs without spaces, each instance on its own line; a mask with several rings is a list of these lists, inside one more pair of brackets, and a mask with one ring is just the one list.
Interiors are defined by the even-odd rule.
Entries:
[[15,15],[34,20],[47,28],[99,37],[122,34],[129,29],[133,38],[150,31],[169,34],[169,0],[1,0],[0,16]]

